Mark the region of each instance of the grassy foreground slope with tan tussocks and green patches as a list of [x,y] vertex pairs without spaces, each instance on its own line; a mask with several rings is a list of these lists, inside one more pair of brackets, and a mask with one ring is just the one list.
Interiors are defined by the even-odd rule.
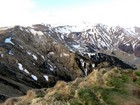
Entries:
[[59,81],[49,89],[31,90],[14,102],[16,105],[139,105],[140,71],[94,70],[85,78],[69,83]]

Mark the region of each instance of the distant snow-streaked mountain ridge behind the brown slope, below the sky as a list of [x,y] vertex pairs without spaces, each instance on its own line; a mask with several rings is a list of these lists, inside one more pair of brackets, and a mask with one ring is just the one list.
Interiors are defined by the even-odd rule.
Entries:
[[[96,24],[91,26],[58,26],[53,27],[52,37],[65,42],[74,49],[84,51],[116,50],[139,55],[140,28],[110,27]],[[56,33],[56,34],[54,34]]]

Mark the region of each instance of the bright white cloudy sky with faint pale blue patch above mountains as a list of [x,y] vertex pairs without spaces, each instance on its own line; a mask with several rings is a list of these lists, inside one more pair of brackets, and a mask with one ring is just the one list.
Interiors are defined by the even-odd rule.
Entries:
[[77,25],[140,26],[140,0],[0,0],[0,26]]

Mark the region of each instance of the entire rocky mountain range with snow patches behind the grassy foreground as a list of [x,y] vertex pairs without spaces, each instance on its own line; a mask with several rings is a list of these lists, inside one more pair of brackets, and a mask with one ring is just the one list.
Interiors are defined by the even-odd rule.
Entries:
[[94,69],[140,68],[140,28],[103,24],[0,28],[0,102]]

